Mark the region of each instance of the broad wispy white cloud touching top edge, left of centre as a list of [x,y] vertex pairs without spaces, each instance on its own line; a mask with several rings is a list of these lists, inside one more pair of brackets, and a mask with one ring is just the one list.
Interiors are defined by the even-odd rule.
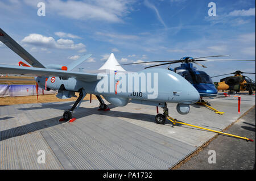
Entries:
[[[28,5],[36,7],[36,1],[24,0]],[[46,0],[47,11],[71,19],[101,20],[122,22],[122,17],[129,14],[134,0],[94,0],[94,1],[60,1]]]

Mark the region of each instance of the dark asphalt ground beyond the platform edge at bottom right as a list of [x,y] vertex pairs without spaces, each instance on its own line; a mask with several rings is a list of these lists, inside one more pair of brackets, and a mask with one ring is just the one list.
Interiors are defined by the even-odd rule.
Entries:
[[[243,135],[254,142],[218,136],[179,169],[255,169],[255,107],[234,123],[226,133]],[[210,150],[216,153],[216,163],[208,162],[212,155]],[[210,158],[210,161],[213,159]]]

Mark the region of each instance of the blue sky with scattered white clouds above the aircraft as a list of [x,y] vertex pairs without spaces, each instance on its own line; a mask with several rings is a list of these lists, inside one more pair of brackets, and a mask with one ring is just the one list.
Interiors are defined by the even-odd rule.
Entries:
[[[45,16],[39,16],[39,2],[46,7]],[[216,16],[208,14],[210,2]],[[100,68],[110,53],[119,64],[222,54],[255,60],[254,0],[3,0],[0,15],[3,31],[43,65],[68,65],[89,53],[93,56],[79,66],[84,71]],[[2,43],[0,55],[0,64],[23,61]],[[200,63],[208,68],[196,68],[210,76],[255,73],[255,61]],[[139,71],[145,66],[123,68]],[[255,81],[255,74],[247,76]]]

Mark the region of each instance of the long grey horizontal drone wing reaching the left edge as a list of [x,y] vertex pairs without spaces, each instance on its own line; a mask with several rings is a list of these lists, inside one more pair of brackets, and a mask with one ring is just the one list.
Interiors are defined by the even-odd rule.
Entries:
[[100,80],[104,75],[93,73],[82,73],[66,70],[55,70],[46,68],[31,68],[26,66],[0,65],[0,73],[3,74],[22,74],[32,75],[34,77],[61,77],[61,78],[77,78],[85,82],[93,82]]

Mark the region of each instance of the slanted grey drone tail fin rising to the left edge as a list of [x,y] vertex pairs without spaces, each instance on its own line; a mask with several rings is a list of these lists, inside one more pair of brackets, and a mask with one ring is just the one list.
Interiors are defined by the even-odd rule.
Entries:
[[5,31],[0,28],[0,41],[13,50],[16,54],[22,57],[28,64],[35,68],[45,68],[38,60],[36,60],[30,53],[22,48],[16,41],[14,41]]

